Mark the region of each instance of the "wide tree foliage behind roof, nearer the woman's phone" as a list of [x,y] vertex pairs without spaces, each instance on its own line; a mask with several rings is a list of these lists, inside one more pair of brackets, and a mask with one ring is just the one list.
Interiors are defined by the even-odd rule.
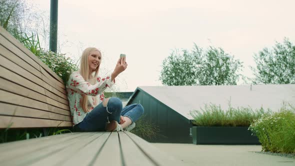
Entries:
[[191,51],[172,53],[163,60],[160,80],[164,85],[225,85],[236,84],[242,62],[222,48],[203,51],[194,44]]

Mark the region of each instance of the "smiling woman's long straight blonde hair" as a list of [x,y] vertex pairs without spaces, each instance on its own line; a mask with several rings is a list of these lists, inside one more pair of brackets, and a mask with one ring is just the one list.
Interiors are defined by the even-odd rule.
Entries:
[[[98,50],[98,49],[94,48],[94,47],[88,47],[88,48],[84,49],[83,52],[82,52],[81,59],[80,59],[80,74],[84,78],[84,80],[89,82],[90,84],[95,83],[94,78],[97,77],[98,71],[99,71],[99,66],[100,66],[99,65],[99,66],[96,67],[94,76],[89,79],[89,76],[92,76],[92,73],[91,73],[91,75],[89,75],[88,56],[90,55],[90,52],[94,51],[94,50]],[[99,53],[101,55],[100,51],[99,51]],[[83,108],[84,112],[89,112],[89,110],[87,108],[87,95],[82,94],[82,96],[83,96],[82,101],[80,103],[81,107]]]

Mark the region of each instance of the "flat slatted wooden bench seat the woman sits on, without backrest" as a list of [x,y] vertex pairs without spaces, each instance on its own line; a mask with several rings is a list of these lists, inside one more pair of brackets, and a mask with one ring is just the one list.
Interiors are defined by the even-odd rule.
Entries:
[[128,131],[72,132],[0,144],[0,165],[181,165]]

